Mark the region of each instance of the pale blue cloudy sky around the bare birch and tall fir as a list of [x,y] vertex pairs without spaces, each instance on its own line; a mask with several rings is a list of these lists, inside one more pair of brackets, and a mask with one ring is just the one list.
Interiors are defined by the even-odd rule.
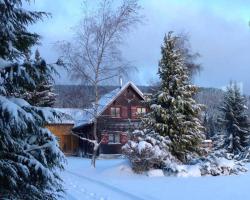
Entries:
[[[32,1],[31,1],[32,2]],[[168,31],[185,32],[203,70],[195,83],[222,88],[235,80],[250,94],[250,0],[139,0],[144,23],[126,35],[124,56],[138,68],[138,85],[157,80],[160,46]],[[30,29],[42,36],[38,49],[48,62],[59,57],[56,41],[68,40],[83,16],[82,0],[37,0],[32,9],[52,14]],[[57,84],[76,84],[61,71]],[[118,84],[118,80],[117,80]]]

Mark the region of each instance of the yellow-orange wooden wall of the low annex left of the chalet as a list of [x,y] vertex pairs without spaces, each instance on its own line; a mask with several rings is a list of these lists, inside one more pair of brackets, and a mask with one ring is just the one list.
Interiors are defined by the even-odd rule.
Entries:
[[77,154],[79,149],[78,137],[71,134],[73,124],[48,124],[48,128],[58,139],[61,150],[67,155]]

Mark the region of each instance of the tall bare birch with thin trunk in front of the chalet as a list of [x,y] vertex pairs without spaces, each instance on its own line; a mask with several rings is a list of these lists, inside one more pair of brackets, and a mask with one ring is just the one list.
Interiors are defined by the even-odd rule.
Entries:
[[[92,2],[93,3],[93,2]],[[94,10],[89,9],[90,1],[85,1],[82,20],[76,27],[74,40],[60,42],[63,60],[68,64],[74,79],[94,87],[92,165],[95,166],[100,143],[97,136],[99,107],[98,87],[131,69],[122,56],[121,45],[126,34],[141,22],[138,0],[99,0]]]

